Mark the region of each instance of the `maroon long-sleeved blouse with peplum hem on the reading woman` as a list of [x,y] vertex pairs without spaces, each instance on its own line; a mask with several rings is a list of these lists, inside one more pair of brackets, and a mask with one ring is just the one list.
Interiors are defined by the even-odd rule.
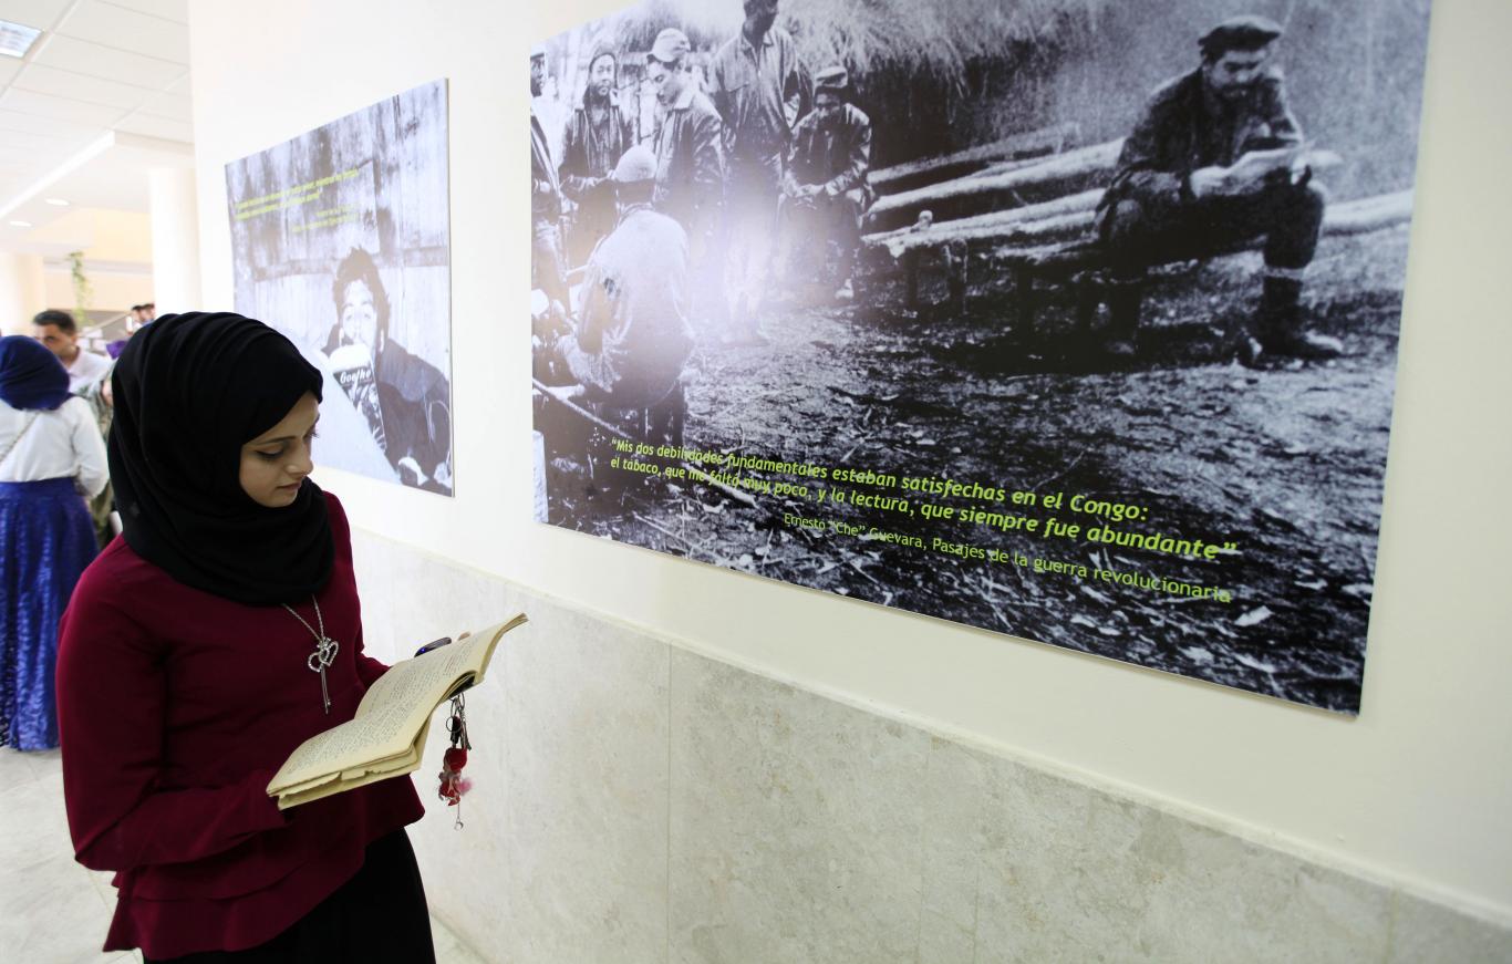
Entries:
[[[280,811],[265,787],[304,739],[352,718],[387,669],[363,654],[351,529],[327,493],[336,568],[319,592],[340,644],[321,678],[314,638],[281,606],[192,589],[115,539],[59,630],[64,796],[79,863],[116,870],[104,950],[150,958],[272,940],[420,819],[410,780]],[[293,604],[318,626],[310,600]]]

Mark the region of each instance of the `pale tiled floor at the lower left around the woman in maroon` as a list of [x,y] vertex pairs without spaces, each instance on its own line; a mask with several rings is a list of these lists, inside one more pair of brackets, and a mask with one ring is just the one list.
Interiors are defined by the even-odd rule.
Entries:
[[[64,817],[57,751],[0,746],[0,958],[26,964],[124,964],[141,955],[104,953],[115,908],[109,873],[74,863]],[[438,964],[482,964],[431,919]]]

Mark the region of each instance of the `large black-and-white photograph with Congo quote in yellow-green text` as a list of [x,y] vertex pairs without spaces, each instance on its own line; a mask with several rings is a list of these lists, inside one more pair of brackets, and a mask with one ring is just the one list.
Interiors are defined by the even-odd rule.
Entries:
[[649,0],[543,38],[537,520],[1358,713],[1427,30]]

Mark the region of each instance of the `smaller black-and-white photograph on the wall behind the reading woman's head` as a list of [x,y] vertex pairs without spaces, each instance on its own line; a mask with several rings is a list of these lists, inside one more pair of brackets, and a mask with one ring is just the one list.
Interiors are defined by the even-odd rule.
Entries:
[[438,80],[225,166],[236,310],[325,375],[314,458],[452,494],[448,97]]

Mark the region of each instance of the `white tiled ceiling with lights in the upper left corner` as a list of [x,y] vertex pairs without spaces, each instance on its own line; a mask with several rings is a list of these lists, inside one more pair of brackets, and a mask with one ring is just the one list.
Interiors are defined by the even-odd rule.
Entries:
[[147,212],[147,171],[192,165],[187,6],[0,0],[0,20],[42,30],[0,56],[0,249],[35,249],[71,207]]

